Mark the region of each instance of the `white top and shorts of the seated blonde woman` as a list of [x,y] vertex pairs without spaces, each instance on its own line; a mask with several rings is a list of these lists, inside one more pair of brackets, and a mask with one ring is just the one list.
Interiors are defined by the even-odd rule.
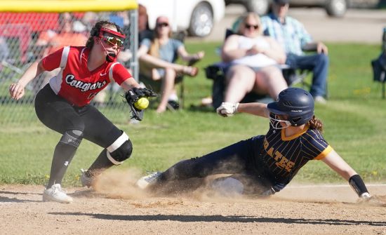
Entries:
[[[258,36],[251,39],[246,36],[239,36],[239,48],[249,49],[252,46],[258,45],[262,48],[269,48],[269,43],[264,37]],[[242,58],[232,61],[234,65],[246,65],[248,67],[267,67],[269,65],[277,65],[276,60],[269,58],[267,55],[258,53],[255,55],[246,55]]]

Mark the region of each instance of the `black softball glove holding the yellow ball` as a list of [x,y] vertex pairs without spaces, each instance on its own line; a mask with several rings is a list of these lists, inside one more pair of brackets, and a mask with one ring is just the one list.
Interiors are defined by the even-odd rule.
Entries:
[[137,109],[134,106],[134,103],[137,102],[140,98],[149,98],[156,97],[157,94],[153,92],[153,90],[147,88],[133,88],[131,90],[126,91],[125,98],[128,103],[128,107],[131,109],[131,118],[137,119],[138,121],[142,121],[144,109]]

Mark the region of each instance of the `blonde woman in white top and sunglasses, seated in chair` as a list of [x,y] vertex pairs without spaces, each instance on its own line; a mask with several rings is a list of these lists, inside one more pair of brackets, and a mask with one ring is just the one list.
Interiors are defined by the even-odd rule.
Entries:
[[230,62],[224,102],[241,102],[251,91],[276,100],[287,83],[279,69],[286,54],[274,39],[262,35],[260,18],[248,13],[241,18],[238,34],[229,36],[222,47],[222,60]]

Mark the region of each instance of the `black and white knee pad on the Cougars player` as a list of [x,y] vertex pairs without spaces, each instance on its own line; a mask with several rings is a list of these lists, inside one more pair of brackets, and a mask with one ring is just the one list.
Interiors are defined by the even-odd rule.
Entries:
[[112,145],[107,147],[107,159],[114,165],[120,165],[131,156],[131,152],[133,152],[133,145],[128,139],[128,135],[122,133]]

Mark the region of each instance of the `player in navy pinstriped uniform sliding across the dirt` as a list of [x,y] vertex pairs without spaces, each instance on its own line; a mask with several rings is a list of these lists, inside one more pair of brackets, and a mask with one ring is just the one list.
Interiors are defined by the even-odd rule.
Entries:
[[173,182],[231,174],[213,180],[211,187],[227,195],[269,196],[284,189],[308,161],[321,160],[349,181],[361,199],[371,198],[361,177],[321,135],[323,124],[314,116],[314,100],[307,91],[287,88],[279,93],[276,102],[268,105],[224,102],[217,112],[222,116],[244,112],[269,118],[269,130],[266,135],[180,161],[163,173],[142,177],[138,187],[157,191]]

